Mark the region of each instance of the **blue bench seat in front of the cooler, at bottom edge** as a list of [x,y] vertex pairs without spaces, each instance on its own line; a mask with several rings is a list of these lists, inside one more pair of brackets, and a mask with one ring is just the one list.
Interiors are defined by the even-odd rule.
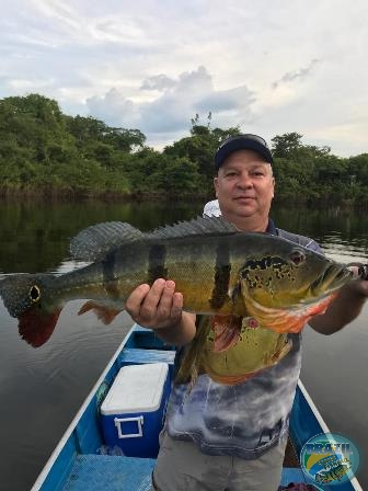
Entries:
[[156,460],[110,455],[78,455],[62,491],[150,491]]

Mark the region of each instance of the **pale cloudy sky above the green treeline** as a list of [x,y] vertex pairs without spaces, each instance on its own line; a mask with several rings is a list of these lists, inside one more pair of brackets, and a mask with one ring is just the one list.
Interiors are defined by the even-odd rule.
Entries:
[[0,0],[0,99],[138,128],[191,119],[368,152],[367,0]]

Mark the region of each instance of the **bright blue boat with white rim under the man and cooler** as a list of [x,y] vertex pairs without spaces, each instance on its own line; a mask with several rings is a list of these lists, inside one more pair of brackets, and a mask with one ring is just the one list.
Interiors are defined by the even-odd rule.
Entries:
[[[154,457],[127,456],[106,452],[101,407],[122,368],[165,364],[172,373],[173,346],[165,345],[152,330],[133,326],[93,389],[61,437],[31,491],[148,491]],[[151,366],[151,365],[150,365]],[[299,455],[314,435],[330,433],[302,382],[299,380],[290,416],[290,435],[284,460],[280,487],[289,483],[315,486],[300,468]],[[158,432],[156,434],[158,442]],[[315,488],[320,489],[320,488]],[[335,491],[323,484],[323,490]],[[338,491],[363,491],[356,478],[338,486]]]

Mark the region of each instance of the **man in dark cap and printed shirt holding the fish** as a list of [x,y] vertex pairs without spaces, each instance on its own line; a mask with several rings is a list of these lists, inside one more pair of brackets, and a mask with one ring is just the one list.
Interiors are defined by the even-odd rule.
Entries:
[[[320,251],[313,240],[279,230],[269,219],[272,164],[265,140],[256,135],[231,137],[220,146],[214,183],[222,217],[239,230],[280,235]],[[352,282],[310,326],[335,332],[358,316],[367,297],[368,282]],[[171,279],[140,285],[126,306],[136,322],[168,343],[188,345],[196,334],[196,318],[182,311],[183,296]],[[185,384],[173,387],[153,473],[157,490],[277,490],[301,362],[300,334],[289,339],[292,347],[283,359],[244,382],[218,384],[205,373],[189,390]]]

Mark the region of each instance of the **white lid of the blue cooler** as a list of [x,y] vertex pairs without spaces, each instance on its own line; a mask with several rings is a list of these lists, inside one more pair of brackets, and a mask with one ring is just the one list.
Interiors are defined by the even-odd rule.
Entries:
[[157,411],[168,372],[166,363],[124,366],[101,404],[101,414]]

